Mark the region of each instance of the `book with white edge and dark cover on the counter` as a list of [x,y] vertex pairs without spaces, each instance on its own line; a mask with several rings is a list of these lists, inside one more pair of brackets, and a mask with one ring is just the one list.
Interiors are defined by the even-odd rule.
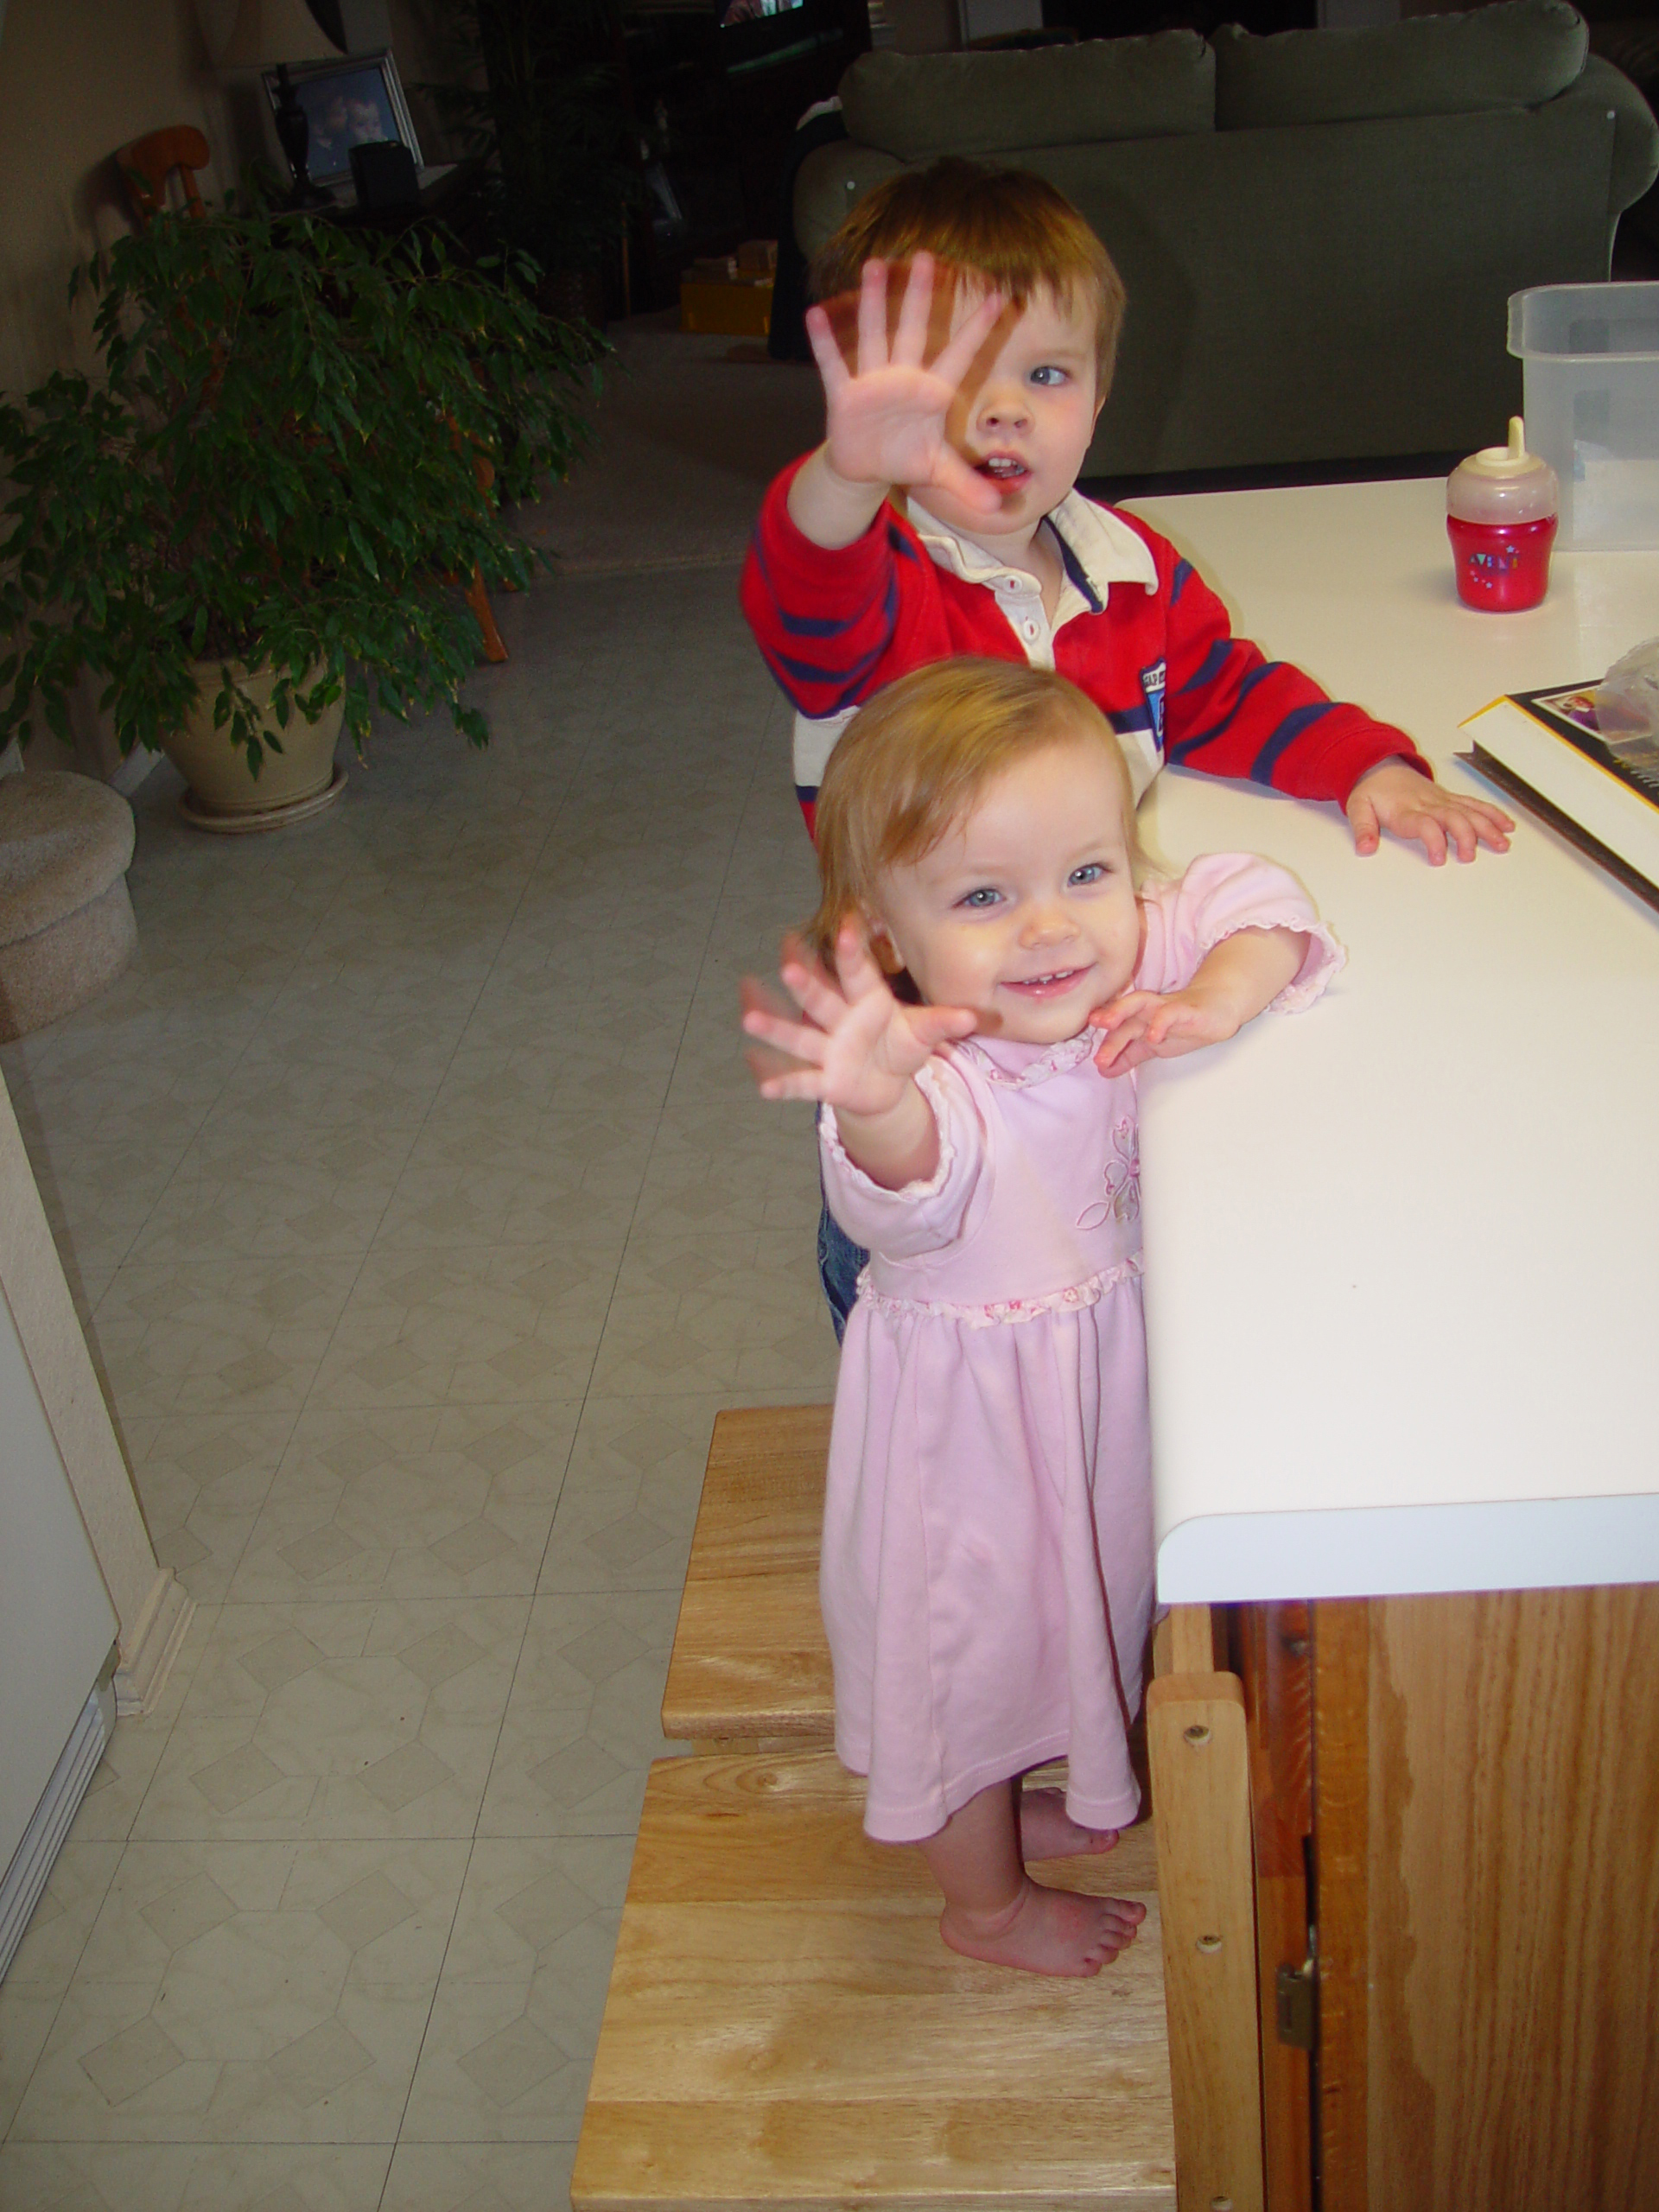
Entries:
[[1604,732],[1595,684],[1511,692],[1471,714],[1462,759],[1659,907],[1659,741]]

